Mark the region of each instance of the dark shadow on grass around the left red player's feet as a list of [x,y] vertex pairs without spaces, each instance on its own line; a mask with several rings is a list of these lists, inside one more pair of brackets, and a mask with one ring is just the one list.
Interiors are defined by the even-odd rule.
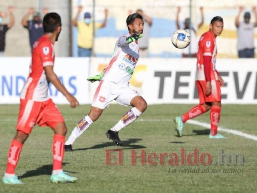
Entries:
[[[63,162],[63,166],[67,165],[67,164],[69,164],[69,163]],[[22,176],[19,176],[19,178],[21,179],[21,178],[28,178],[28,177],[33,177],[33,176],[40,176],[40,175],[51,175],[52,170],[53,170],[53,164],[47,164],[47,165],[43,165],[35,170],[27,171]],[[71,172],[71,171],[67,171],[67,170],[63,170],[63,171],[69,172],[72,174],[78,174],[78,172]]]

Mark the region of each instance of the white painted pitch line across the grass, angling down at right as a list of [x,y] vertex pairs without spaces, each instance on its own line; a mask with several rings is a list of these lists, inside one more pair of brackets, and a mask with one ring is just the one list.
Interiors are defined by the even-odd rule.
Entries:
[[[78,120],[74,120],[74,119],[65,119],[65,121],[78,121]],[[99,121],[118,121],[118,120],[99,120]],[[172,119],[138,119],[137,121],[140,121],[140,122],[173,122]],[[0,119],[0,122],[17,122],[16,119]],[[194,124],[194,125],[199,125],[199,126],[202,126],[204,128],[207,128],[207,129],[210,129],[211,125],[208,124],[208,123],[203,123],[203,122],[200,122],[200,121],[196,121],[196,120],[188,120],[186,123],[188,124]],[[244,137],[244,138],[248,138],[248,139],[252,139],[254,141],[257,141],[257,136],[254,136],[254,135],[250,135],[250,134],[246,134],[246,133],[243,133],[241,131],[237,131],[237,130],[232,130],[232,129],[227,129],[227,128],[222,128],[222,127],[218,127],[218,130],[219,131],[223,131],[223,132],[226,132],[226,133],[231,133],[231,134],[234,134],[234,135],[238,135],[238,136],[241,136],[241,137]]]

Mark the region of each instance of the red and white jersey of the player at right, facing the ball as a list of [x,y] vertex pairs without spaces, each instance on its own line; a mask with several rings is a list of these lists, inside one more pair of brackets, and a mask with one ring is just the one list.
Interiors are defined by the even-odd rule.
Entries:
[[198,42],[196,80],[206,80],[204,75],[204,56],[212,57],[212,60],[210,62],[211,79],[218,80],[218,76],[215,71],[217,46],[215,37],[212,35],[210,31],[205,32],[200,37]]

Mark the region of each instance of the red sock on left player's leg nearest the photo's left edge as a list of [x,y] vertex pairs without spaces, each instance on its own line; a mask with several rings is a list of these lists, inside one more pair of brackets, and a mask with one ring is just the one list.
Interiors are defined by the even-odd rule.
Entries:
[[14,174],[15,168],[20,158],[22,146],[23,144],[21,142],[13,139],[7,159],[7,168],[5,171],[7,174]]

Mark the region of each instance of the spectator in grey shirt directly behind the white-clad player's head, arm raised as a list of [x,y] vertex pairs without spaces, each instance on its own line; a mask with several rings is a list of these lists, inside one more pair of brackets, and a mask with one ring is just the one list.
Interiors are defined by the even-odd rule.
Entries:
[[152,25],[152,19],[151,17],[146,15],[142,11],[142,9],[138,9],[136,13],[140,14],[143,17],[143,21],[144,21],[143,37],[138,40],[139,54],[140,54],[140,57],[148,57],[148,39],[149,39],[150,27]]

